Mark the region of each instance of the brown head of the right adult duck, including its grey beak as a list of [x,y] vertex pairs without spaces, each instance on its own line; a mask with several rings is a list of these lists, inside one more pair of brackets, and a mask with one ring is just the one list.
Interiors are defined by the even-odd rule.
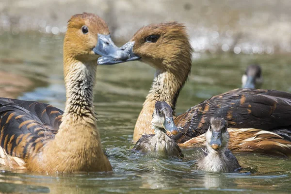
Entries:
[[181,70],[181,64],[191,66],[192,48],[188,34],[185,26],[177,22],[145,26],[138,30],[121,49],[129,53],[126,61],[101,57],[98,59],[98,64],[113,65],[139,60],[165,71]]

